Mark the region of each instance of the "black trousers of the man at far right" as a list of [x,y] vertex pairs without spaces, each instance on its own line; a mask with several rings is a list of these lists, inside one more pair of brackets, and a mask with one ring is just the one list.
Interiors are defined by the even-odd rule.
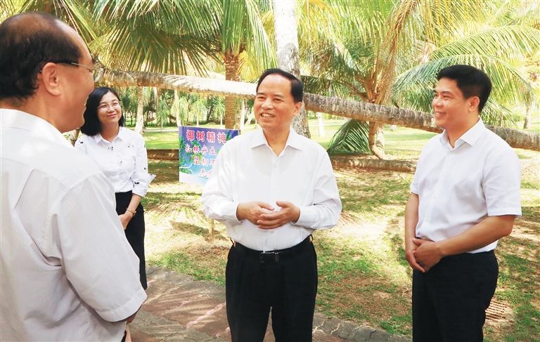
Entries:
[[493,251],[442,258],[413,272],[413,342],[483,341],[499,264]]

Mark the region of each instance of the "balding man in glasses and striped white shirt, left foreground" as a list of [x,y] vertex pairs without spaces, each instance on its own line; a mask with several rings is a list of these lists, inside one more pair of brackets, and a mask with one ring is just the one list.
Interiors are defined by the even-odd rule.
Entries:
[[121,341],[146,299],[111,184],[62,133],[102,70],[74,29],[0,25],[0,340]]

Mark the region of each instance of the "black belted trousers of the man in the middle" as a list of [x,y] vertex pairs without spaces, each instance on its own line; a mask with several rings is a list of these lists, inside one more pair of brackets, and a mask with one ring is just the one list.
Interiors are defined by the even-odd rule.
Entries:
[[311,242],[291,258],[264,263],[232,246],[226,267],[232,341],[263,341],[270,311],[276,342],[311,341],[317,281]]

